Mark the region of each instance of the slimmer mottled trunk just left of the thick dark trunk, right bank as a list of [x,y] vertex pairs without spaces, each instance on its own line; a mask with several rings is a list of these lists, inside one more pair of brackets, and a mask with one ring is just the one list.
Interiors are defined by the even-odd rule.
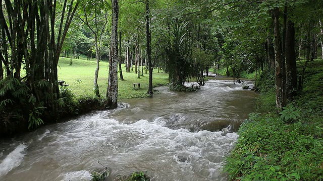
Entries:
[[275,68],[276,68],[276,108],[280,112],[284,105],[283,99],[283,74],[282,74],[282,47],[279,30],[279,9],[274,10],[274,35],[275,35]]

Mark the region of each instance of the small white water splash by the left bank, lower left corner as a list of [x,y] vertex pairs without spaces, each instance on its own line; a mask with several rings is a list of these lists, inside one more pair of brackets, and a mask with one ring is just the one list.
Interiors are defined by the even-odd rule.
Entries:
[[23,153],[25,148],[27,148],[27,146],[22,143],[6,156],[6,158],[0,163],[0,176],[7,174],[9,171],[20,165],[25,156]]

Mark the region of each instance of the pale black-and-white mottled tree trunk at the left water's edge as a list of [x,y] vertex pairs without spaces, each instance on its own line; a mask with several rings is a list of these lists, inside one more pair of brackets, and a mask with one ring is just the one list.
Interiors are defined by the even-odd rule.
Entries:
[[109,64],[109,82],[106,91],[106,107],[115,109],[118,107],[118,0],[111,0],[112,4],[112,31],[111,31],[111,56]]

